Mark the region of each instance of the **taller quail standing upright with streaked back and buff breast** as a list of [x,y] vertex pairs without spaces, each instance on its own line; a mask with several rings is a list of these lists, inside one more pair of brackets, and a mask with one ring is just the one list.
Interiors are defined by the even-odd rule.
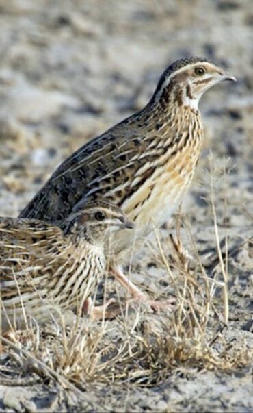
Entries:
[[[189,188],[203,140],[198,102],[224,80],[235,77],[205,58],[174,62],[148,104],[70,155],[21,217],[55,223],[88,200],[103,197],[135,222],[136,240],[145,238],[170,218]],[[122,251],[133,245],[127,232],[117,234],[111,269],[134,297],[147,301],[120,267]],[[160,306],[157,301],[150,305]]]

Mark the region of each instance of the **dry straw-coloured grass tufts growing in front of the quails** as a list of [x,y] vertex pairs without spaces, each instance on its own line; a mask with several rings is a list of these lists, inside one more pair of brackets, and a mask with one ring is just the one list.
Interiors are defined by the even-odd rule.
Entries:
[[[220,247],[212,160],[210,171],[209,203],[217,249],[217,264],[211,273],[202,263],[186,220],[193,258],[183,250],[181,216],[176,240],[161,240],[161,233],[156,231],[156,242],[148,245],[152,262],[165,271],[170,291],[177,298],[175,312],[149,314],[143,308],[133,310],[131,305],[122,305],[121,316],[102,324],[77,316],[69,326],[62,317],[56,328],[49,325],[40,329],[36,325],[17,331],[11,341],[2,338],[3,345],[9,346],[13,373],[22,370],[25,375],[54,379],[79,392],[91,382],[153,386],[168,375],[187,374],[189,369],[231,371],[252,361],[252,349],[246,343],[232,343],[224,334],[229,318],[229,249],[227,236],[225,252]],[[226,197],[224,205],[226,214]],[[173,258],[166,252],[169,245],[170,249],[174,247]]]

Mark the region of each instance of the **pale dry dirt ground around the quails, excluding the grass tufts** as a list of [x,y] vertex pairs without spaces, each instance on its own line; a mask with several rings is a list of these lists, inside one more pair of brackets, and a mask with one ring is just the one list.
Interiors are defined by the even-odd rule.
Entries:
[[[122,368],[123,379],[117,379],[117,364],[115,377],[105,369],[107,377],[101,373],[80,385],[72,379],[66,384],[48,371],[43,377],[36,375],[38,366],[31,375],[29,358],[21,362],[19,353],[15,358],[5,349],[0,381],[2,376],[13,377],[13,383],[0,386],[0,410],[252,412],[252,0],[2,0],[0,25],[1,215],[16,216],[67,155],[142,108],[163,69],[177,58],[204,55],[238,79],[237,84],[222,84],[202,98],[204,151],[183,203],[183,221],[189,223],[198,256],[213,277],[219,264],[210,201],[213,179],[220,245],[224,256],[228,252],[230,299],[228,327],[214,345],[220,361],[233,349],[230,368],[178,362],[167,370],[163,366],[161,379],[159,368],[154,367],[153,377],[142,371],[142,377],[148,377],[145,381],[132,374],[141,365],[137,356],[132,370],[129,364],[124,367],[126,376]],[[167,255],[170,228],[173,224],[161,231]],[[182,238],[191,255],[196,255],[186,224]],[[156,248],[157,241],[150,240],[135,257],[132,277],[143,289],[159,294],[166,270]],[[116,295],[112,280],[109,291]],[[124,296],[121,290],[120,294]],[[219,290],[215,303],[222,314]],[[172,323],[165,315],[145,311],[136,321],[132,310],[129,331],[135,329],[142,336],[143,325],[153,328],[160,322]],[[207,329],[210,337],[217,334],[218,324],[213,316]],[[92,328],[98,331],[101,326]],[[113,332],[105,334],[105,343],[128,340],[122,318],[109,322],[107,329]],[[53,335],[43,334],[47,341],[43,357],[38,358],[47,362]],[[154,343],[159,334],[152,336]],[[226,342],[223,353],[220,338]],[[25,348],[31,350],[31,345]],[[239,361],[233,365],[237,351],[241,351]],[[80,368],[85,368],[83,363]],[[34,384],[18,385],[21,375],[34,377]]]

